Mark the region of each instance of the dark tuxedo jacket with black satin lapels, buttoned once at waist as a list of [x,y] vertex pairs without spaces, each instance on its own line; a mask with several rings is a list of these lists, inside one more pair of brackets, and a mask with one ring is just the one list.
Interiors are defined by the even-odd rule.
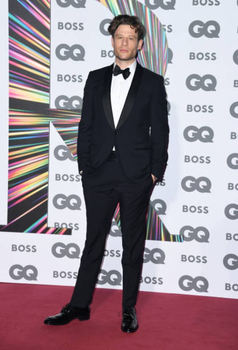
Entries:
[[167,165],[168,118],[164,78],[143,68],[136,71],[115,128],[110,88],[113,64],[88,75],[78,131],[78,166],[96,172],[115,145],[118,161],[131,181],[155,175],[159,181]]

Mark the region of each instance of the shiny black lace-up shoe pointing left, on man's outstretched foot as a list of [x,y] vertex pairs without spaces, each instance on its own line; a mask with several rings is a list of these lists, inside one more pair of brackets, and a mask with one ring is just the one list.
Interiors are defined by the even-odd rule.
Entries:
[[79,321],[89,320],[90,317],[90,308],[89,306],[85,308],[80,308],[67,304],[59,314],[54,316],[49,316],[44,320],[45,324],[50,325],[62,325],[67,324],[78,318]]

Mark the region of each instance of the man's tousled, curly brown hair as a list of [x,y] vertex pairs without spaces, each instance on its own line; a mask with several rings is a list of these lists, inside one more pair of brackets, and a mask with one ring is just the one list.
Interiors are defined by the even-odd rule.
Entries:
[[107,29],[112,37],[114,37],[115,31],[121,24],[128,24],[131,28],[135,29],[135,32],[138,33],[138,41],[140,39],[143,40],[146,31],[145,27],[137,16],[118,15],[114,17]]

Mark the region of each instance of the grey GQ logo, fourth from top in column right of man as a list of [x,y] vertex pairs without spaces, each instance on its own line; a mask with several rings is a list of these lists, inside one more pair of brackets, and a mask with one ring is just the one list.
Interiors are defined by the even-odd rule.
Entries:
[[200,193],[210,193],[211,181],[205,176],[198,177],[197,179],[193,176],[185,176],[181,181],[181,187],[186,192],[197,190]]

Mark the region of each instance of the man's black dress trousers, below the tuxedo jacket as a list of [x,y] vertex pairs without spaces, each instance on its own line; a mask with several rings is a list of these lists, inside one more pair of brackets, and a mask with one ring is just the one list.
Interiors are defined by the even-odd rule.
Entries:
[[136,304],[146,235],[146,214],[153,188],[150,173],[142,182],[130,182],[115,152],[92,172],[86,169],[82,184],[86,205],[87,232],[77,281],[70,303],[85,307],[93,290],[117,203],[120,203],[122,231],[123,306]]

